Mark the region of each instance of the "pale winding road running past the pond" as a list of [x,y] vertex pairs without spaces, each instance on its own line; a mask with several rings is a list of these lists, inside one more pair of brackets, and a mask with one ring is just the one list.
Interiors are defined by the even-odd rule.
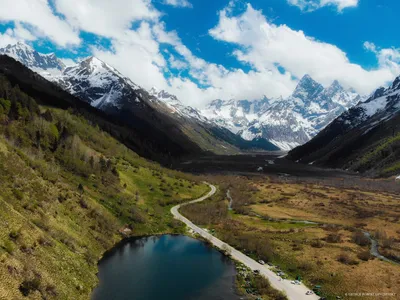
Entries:
[[248,268],[250,268],[253,271],[259,270],[260,274],[270,281],[271,286],[277,290],[284,292],[286,294],[286,296],[288,297],[288,299],[293,299],[293,300],[319,299],[319,297],[314,294],[306,295],[306,292],[309,291],[309,289],[305,285],[303,285],[303,284],[294,285],[294,284],[291,284],[289,280],[281,280],[280,277],[277,276],[274,272],[272,272],[267,265],[261,265],[260,263],[256,262],[254,259],[248,257],[247,255],[243,254],[242,252],[236,250],[235,248],[224,243],[223,241],[217,239],[216,237],[214,237],[207,231],[205,231],[205,230],[201,229],[200,227],[196,226],[195,224],[193,224],[189,219],[185,218],[184,216],[182,216],[179,213],[179,208],[181,208],[182,206],[204,201],[207,198],[209,198],[215,194],[215,192],[217,191],[217,188],[215,186],[213,186],[212,184],[209,184],[209,183],[207,183],[207,184],[211,188],[210,192],[207,195],[205,195],[199,199],[172,207],[171,213],[173,214],[173,216],[176,219],[185,223],[194,232],[201,235],[203,238],[205,238],[210,243],[212,243],[215,247],[218,247],[221,250],[228,250],[233,259],[241,262],[242,264],[244,264],[245,266],[247,266]]

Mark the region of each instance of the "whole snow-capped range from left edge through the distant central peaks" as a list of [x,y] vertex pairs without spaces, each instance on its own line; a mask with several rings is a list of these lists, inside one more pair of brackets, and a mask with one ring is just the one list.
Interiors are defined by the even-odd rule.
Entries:
[[[214,100],[199,110],[184,105],[165,90],[143,89],[96,57],[67,67],[55,54],[39,53],[24,43],[0,49],[0,54],[13,57],[93,107],[128,123],[135,121],[135,126],[137,120],[149,123],[154,114],[161,113],[164,116],[156,118],[171,119],[167,122],[169,130],[174,123],[179,124],[182,130],[178,130],[177,136],[190,135],[190,140],[201,149],[218,153],[250,148],[290,150],[308,142],[337,116],[363,100],[338,81],[324,88],[305,75],[287,98]],[[163,131],[166,127],[161,123],[158,129]],[[154,125],[157,122],[147,124]]]

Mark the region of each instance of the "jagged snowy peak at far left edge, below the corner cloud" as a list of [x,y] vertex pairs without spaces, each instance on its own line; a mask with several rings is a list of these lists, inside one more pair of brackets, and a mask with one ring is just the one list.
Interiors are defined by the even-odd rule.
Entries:
[[60,75],[65,68],[65,64],[58,59],[54,53],[39,53],[22,42],[0,48],[0,54],[6,54],[18,60],[31,70],[46,78]]

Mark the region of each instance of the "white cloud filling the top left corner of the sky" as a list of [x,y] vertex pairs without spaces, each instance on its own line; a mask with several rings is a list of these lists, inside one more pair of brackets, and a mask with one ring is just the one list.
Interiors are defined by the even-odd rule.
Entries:
[[0,7],[0,21],[29,24],[60,46],[80,43],[77,31],[53,14],[47,0],[0,0]]

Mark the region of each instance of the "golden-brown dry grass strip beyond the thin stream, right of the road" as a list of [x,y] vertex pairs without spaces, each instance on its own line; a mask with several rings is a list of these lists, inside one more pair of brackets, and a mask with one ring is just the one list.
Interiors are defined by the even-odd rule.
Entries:
[[365,224],[369,231],[384,229],[391,236],[400,232],[400,198],[395,195],[302,184],[269,183],[257,188],[259,203],[251,208],[268,217],[355,227]]

